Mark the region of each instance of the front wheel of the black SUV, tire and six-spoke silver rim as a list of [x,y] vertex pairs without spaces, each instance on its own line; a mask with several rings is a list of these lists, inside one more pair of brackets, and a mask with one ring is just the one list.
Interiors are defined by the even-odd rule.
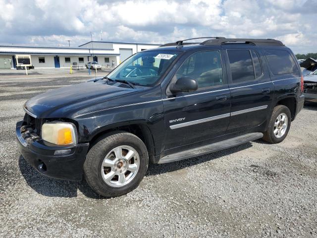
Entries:
[[93,145],[84,163],[84,174],[98,194],[117,197],[139,185],[148,164],[148,151],[143,141],[134,134],[120,131],[107,134]]

